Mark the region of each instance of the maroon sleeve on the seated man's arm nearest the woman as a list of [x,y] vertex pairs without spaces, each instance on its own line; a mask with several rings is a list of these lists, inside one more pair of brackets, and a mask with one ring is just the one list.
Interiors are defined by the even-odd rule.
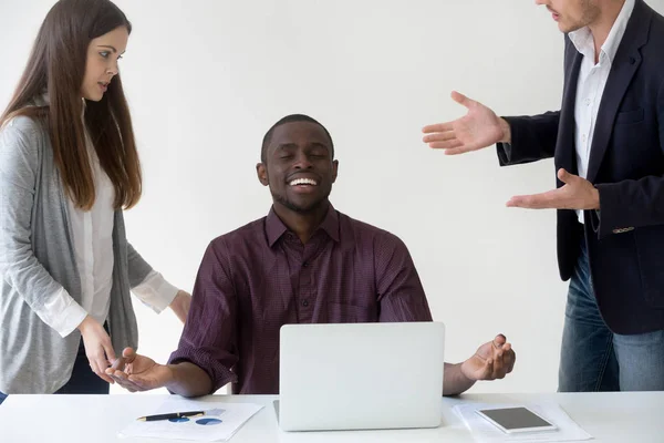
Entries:
[[188,361],[207,372],[212,392],[237,381],[237,296],[227,250],[218,238],[207,248],[194,286],[189,317],[169,363]]

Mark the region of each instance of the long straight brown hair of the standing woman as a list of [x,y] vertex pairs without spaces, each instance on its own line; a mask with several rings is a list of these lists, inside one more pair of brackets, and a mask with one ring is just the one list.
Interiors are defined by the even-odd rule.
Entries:
[[[43,122],[62,184],[74,204],[92,208],[95,187],[81,119],[81,86],[92,39],[132,24],[110,0],[60,0],[49,11],[0,127],[25,115]],[[48,107],[32,106],[44,92]],[[114,207],[129,208],[142,192],[141,164],[120,73],[100,102],[85,105],[85,127],[100,164],[115,187]]]

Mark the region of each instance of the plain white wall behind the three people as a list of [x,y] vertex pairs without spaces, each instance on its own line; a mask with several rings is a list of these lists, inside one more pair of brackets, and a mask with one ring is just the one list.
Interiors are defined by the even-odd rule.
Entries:
[[[53,0],[0,0],[0,107]],[[554,185],[551,161],[499,168],[495,150],[448,157],[421,127],[455,119],[457,89],[501,115],[559,109],[562,35],[523,0],[116,0],[134,24],[121,70],[145,194],[129,240],[191,290],[216,236],[267,214],[260,142],[301,112],[330,130],[332,202],[408,245],[456,362],[497,332],[513,373],[475,392],[554,391],[567,285],[554,213],[506,208]],[[658,11],[664,0],[649,0]],[[181,326],[136,301],[141,350],[165,362]],[[113,388],[112,392],[121,392]],[[157,391],[159,392],[159,391]],[[160,392],[164,392],[163,390]]]

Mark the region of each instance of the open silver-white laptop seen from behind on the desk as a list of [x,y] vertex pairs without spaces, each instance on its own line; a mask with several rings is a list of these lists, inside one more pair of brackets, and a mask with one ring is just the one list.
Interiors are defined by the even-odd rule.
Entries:
[[437,427],[444,342],[440,322],[281,327],[279,426]]

